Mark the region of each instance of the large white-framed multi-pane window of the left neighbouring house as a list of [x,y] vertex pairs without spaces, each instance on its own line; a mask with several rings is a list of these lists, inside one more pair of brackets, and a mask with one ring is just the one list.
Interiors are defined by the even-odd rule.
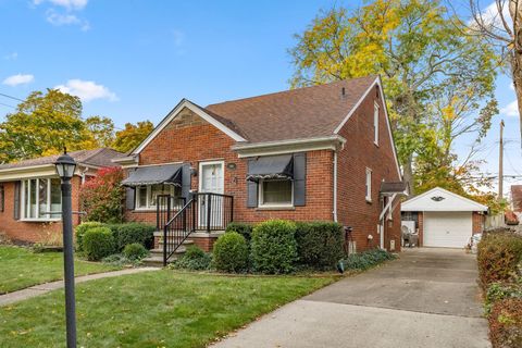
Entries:
[[22,181],[22,217],[23,220],[54,221],[60,220],[62,194],[60,179],[29,178]]

